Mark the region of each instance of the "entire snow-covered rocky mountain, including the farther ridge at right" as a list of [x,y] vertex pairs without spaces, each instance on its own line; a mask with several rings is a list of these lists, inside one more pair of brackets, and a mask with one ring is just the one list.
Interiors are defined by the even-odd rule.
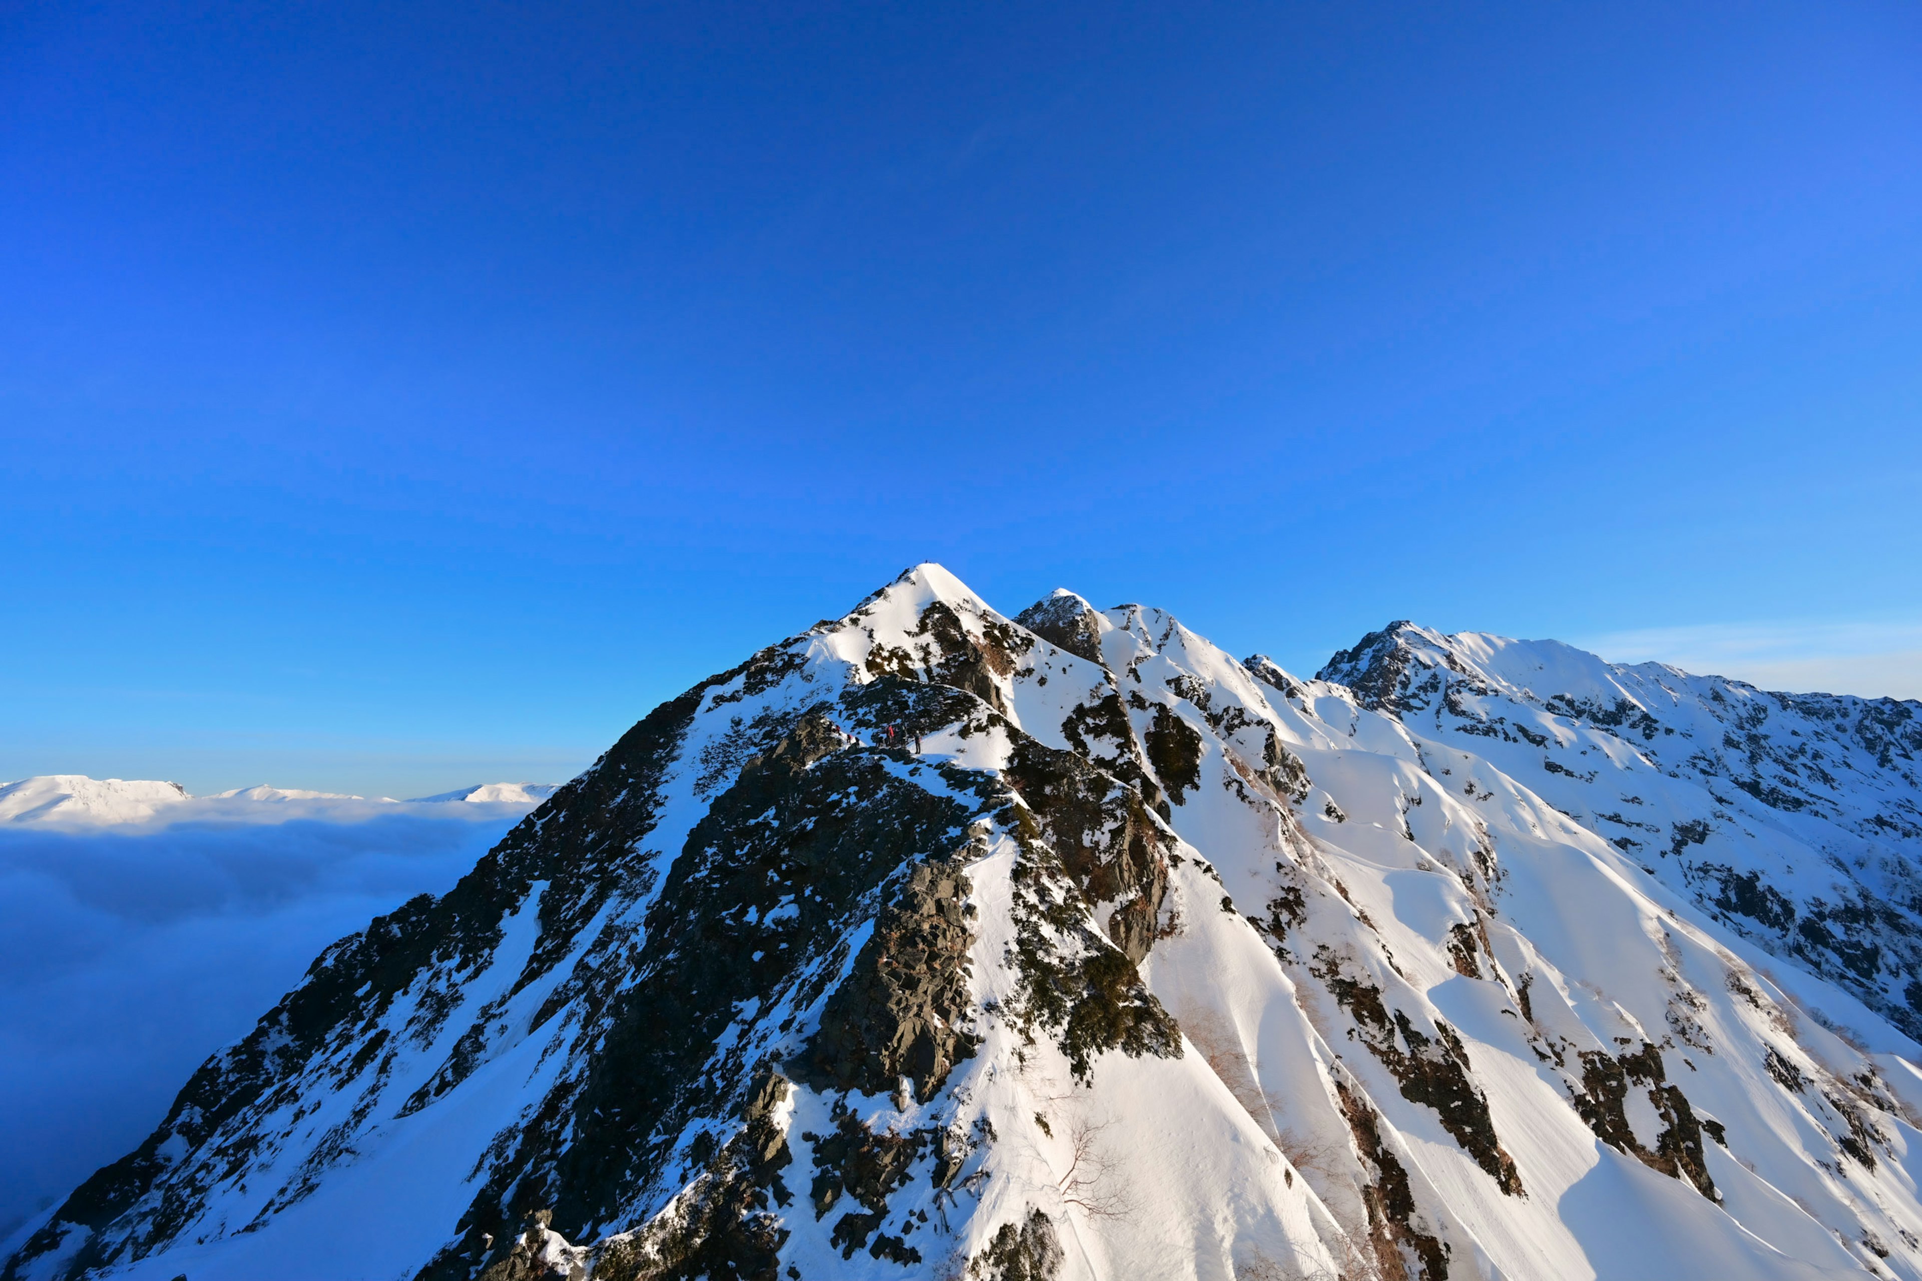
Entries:
[[1516,645],[1297,680],[917,567],[331,947],[4,1277],[1922,1277],[1914,707]]

